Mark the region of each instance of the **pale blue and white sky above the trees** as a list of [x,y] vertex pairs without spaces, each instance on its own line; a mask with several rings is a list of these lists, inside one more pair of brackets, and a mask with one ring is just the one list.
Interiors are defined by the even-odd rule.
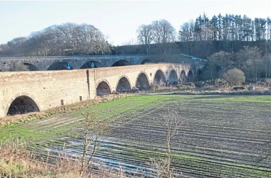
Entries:
[[87,23],[108,36],[113,45],[136,42],[136,29],[166,19],[178,30],[205,12],[213,15],[271,16],[271,1],[0,1],[0,44],[29,36],[48,26]]

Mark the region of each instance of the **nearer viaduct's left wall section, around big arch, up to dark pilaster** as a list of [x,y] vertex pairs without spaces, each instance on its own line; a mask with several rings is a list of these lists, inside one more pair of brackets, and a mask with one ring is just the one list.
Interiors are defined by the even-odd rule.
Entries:
[[[93,81],[90,73],[90,81]],[[94,90],[90,84],[90,90]],[[40,110],[88,100],[86,70],[75,71],[28,71],[0,73],[0,117],[5,116],[8,107],[19,96],[33,99]]]

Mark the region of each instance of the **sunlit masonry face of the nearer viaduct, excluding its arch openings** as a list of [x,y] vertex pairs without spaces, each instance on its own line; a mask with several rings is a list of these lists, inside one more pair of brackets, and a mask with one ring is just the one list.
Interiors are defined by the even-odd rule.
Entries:
[[30,97],[42,111],[61,106],[61,100],[67,105],[80,102],[80,96],[82,101],[94,99],[101,81],[105,81],[112,92],[122,77],[128,79],[132,88],[140,73],[145,73],[151,84],[158,70],[168,79],[172,70],[179,78],[181,71],[187,76],[190,68],[190,65],[159,63],[89,70],[0,72],[0,117],[6,115],[12,101],[19,96]]

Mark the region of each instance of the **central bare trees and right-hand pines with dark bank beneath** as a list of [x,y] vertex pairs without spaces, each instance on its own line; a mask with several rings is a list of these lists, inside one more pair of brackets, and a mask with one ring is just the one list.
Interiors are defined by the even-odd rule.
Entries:
[[[246,15],[219,14],[210,19],[204,13],[182,24],[178,34],[166,20],[140,25],[136,32],[139,45],[115,47],[116,54],[183,53],[207,58],[221,50],[238,52],[243,46],[271,51],[270,17],[252,20]],[[166,40],[161,40],[163,37]]]

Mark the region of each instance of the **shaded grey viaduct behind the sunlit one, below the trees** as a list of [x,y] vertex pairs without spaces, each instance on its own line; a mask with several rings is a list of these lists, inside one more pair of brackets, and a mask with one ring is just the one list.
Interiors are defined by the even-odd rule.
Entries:
[[[182,63],[180,55],[167,57],[168,61]],[[94,68],[138,65],[145,63],[157,63],[165,60],[163,56],[147,55],[99,55],[99,56],[51,56],[51,57],[7,57],[0,58],[0,71],[10,71],[13,63],[21,62],[28,66],[30,71],[56,71],[66,70],[67,64],[72,69],[88,69],[91,63]],[[190,61],[189,61],[190,62]]]

